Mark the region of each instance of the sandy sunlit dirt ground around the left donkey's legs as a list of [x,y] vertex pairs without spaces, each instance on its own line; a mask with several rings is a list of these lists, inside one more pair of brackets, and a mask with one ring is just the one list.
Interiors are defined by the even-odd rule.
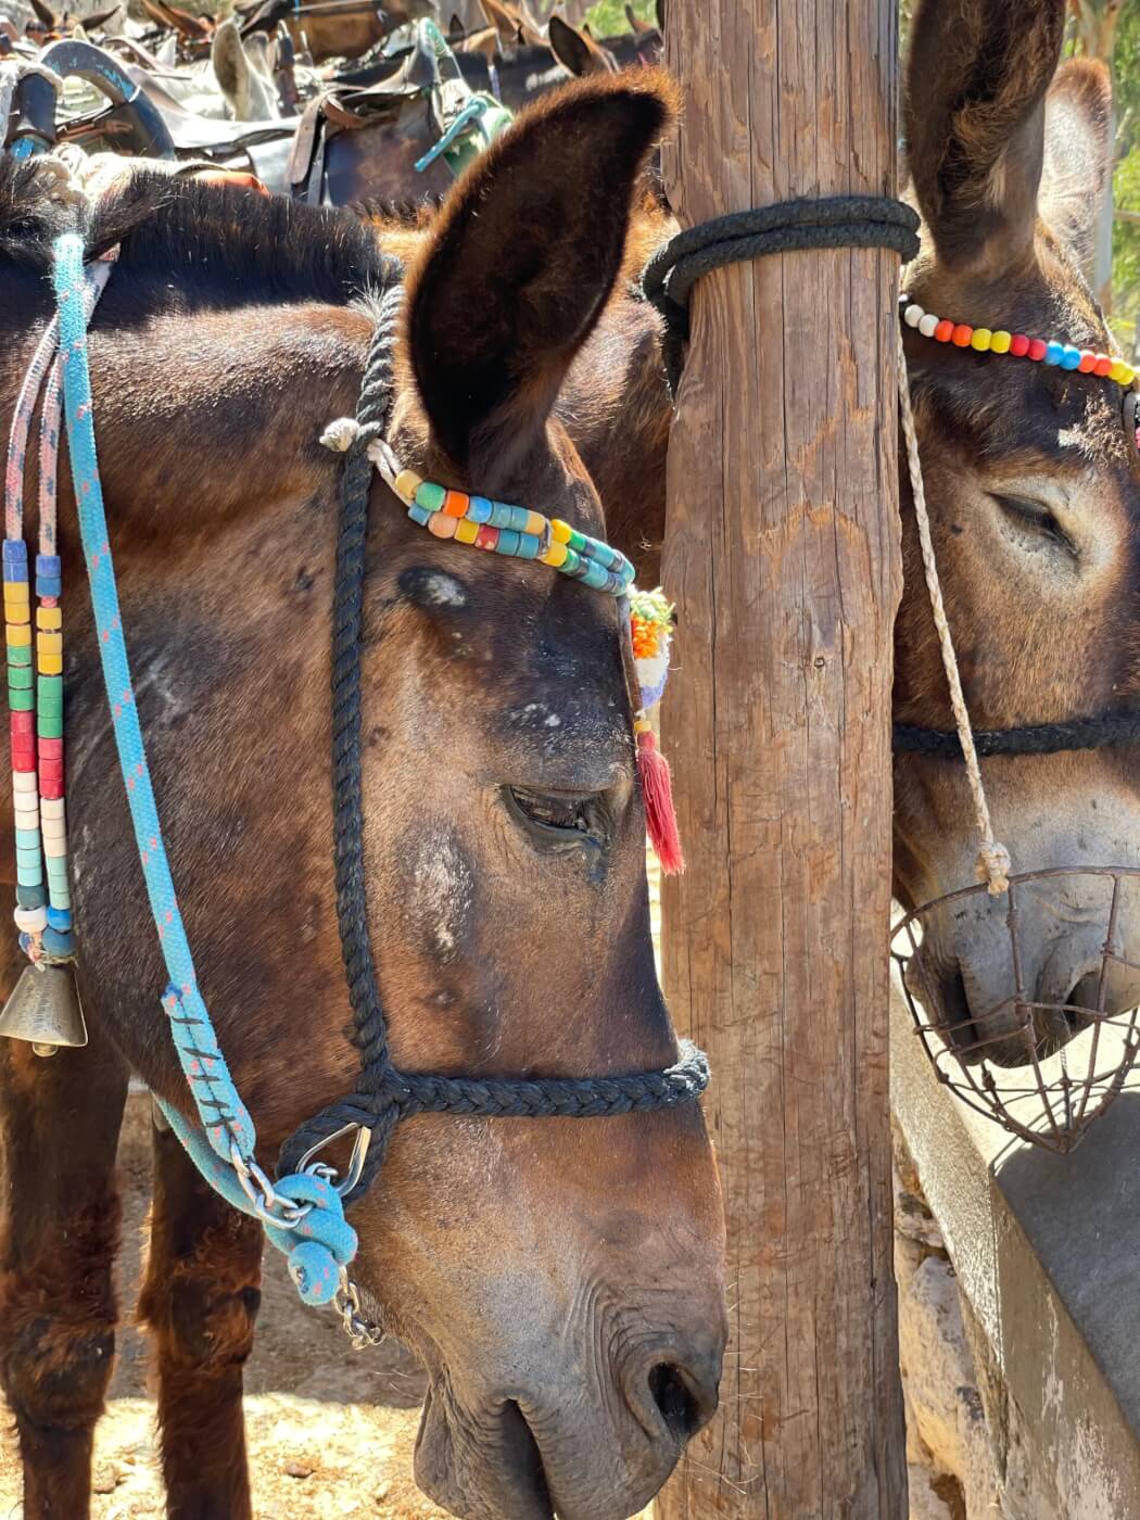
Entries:
[[[160,1520],[154,1401],[146,1347],[129,1322],[149,1202],[149,1097],[129,1099],[119,1149],[125,1251],[119,1365],[99,1424],[94,1520]],[[353,1351],[330,1310],[306,1309],[277,1251],[264,1257],[264,1301],[246,1368],[246,1430],[258,1520],[409,1520],[442,1515],[412,1480],[423,1373],[395,1342]],[[0,1406],[0,1520],[18,1520],[20,1462]]]

